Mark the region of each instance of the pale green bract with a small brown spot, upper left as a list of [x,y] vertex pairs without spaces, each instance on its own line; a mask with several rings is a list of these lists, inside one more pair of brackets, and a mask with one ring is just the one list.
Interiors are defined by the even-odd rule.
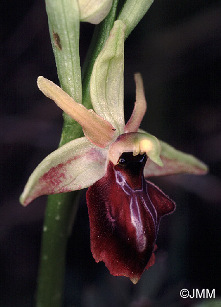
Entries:
[[46,0],[46,10],[60,85],[76,102],[81,103],[78,1]]

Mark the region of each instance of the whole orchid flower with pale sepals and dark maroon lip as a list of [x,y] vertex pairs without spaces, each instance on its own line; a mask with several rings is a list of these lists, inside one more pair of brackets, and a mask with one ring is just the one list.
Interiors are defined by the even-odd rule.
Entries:
[[137,283],[154,263],[154,249],[161,217],[175,204],[148,176],[189,172],[206,173],[196,158],[175,150],[139,130],[146,112],[143,81],[135,74],[136,102],[124,123],[122,21],[115,25],[99,54],[90,91],[94,110],[86,109],[59,86],[38,77],[39,89],[75,119],[84,137],[52,152],[34,170],[21,194],[26,206],[43,194],[69,192],[89,187],[91,250],[113,275]]

